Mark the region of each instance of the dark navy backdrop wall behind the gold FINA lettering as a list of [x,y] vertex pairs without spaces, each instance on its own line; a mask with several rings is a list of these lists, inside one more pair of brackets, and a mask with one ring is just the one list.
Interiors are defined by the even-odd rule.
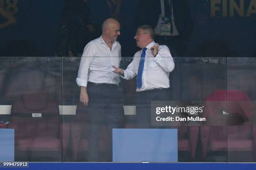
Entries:
[[[228,6],[229,6],[229,0]],[[106,0],[88,0],[95,23],[101,23],[109,17]],[[236,0],[239,2],[239,0]],[[245,0],[246,14],[251,0]],[[230,50],[238,57],[253,57],[256,50],[256,14],[250,17],[240,17],[235,11],[234,17],[223,17],[222,7],[216,12],[216,17],[210,16],[210,0],[188,0],[193,33],[188,42],[187,56],[193,54],[206,41],[220,40],[227,43]],[[239,4],[239,3],[238,3]],[[19,0],[17,23],[0,29],[0,54],[11,40],[29,40],[39,50],[40,56],[53,56],[56,47],[56,30],[64,0]],[[136,52],[134,20],[138,0],[123,0],[120,10],[122,18],[121,36],[123,56],[133,50]],[[228,7],[229,8],[229,7]],[[229,13],[229,9],[228,9]],[[207,57],[207,56],[205,56]]]

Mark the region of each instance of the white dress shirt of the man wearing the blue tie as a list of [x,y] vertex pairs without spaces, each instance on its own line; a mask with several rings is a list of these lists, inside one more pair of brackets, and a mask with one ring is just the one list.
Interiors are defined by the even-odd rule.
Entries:
[[[137,92],[151,89],[169,88],[169,73],[174,69],[174,61],[169,48],[166,45],[160,45],[158,54],[153,56],[150,48],[156,42],[151,42],[146,46],[146,57],[142,74],[142,87],[136,89]],[[135,53],[133,61],[124,70],[124,77],[127,80],[132,79],[138,74],[138,67],[141,59],[142,50]]]

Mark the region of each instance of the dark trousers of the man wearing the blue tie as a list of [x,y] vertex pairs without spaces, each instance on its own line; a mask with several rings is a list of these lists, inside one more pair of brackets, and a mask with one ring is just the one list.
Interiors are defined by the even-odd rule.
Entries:
[[169,101],[169,88],[136,92],[138,128],[157,128],[151,126],[151,101]]

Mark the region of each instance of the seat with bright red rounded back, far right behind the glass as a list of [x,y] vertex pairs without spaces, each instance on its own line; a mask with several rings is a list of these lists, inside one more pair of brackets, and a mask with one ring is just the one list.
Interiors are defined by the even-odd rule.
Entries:
[[[210,123],[200,127],[203,158],[206,158],[209,151],[254,152],[256,148],[254,144],[254,139],[256,139],[255,127],[250,124],[244,125],[248,120],[238,123],[239,125],[229,125],[228,116],[218,111],[223,107],[228,115],[237,113],[244,120],[246,120],[246,117],[248,117],[247,119],[252,119],[254,104],[251,102],[251,99],[240,90],[215,90],[206,97],[205,101],[209,104],[208,108],[205,107],[207,111],[203,115],[206,120],[214,119],[218,116],[223,118],[218,119],[220,124],[215,121],[212,125]],[[223,122],[224,124],[221,124]]]

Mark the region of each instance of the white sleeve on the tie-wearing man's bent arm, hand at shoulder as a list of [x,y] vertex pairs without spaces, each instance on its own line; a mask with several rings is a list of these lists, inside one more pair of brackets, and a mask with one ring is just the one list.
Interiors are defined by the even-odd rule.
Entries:
[[172,72],[175,64],[169,48],[166,45],[159,47],[158,54],[154,60],[164,69],[166,72]]

